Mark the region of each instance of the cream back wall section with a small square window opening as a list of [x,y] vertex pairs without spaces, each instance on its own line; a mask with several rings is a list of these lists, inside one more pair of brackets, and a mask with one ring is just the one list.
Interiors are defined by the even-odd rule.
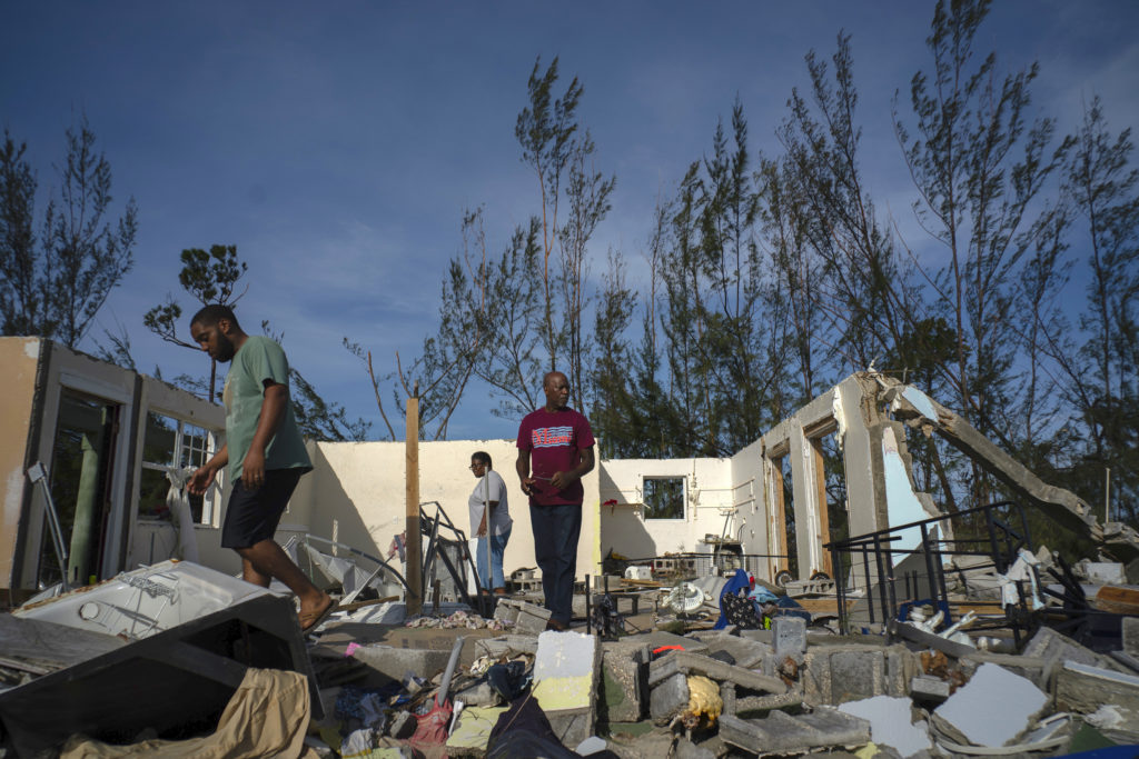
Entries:
[[[641,503],[645,477],[683,477],[686,489],[683,519],[646,519]],[[600,554],[613,550],[629,559],[645,559],[665,553],[708,553],[700,541],[707,534],[720,535],[724,517],[721,510],[734,503],[732,465],[728,459],[614,459],[601,462],[600,500],[617,505],[600,509]],[[732,535],[738,522],[731,526]]]

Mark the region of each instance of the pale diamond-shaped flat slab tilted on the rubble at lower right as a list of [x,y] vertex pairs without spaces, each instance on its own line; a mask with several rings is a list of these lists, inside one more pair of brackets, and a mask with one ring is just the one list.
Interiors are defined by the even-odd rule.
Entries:
[[986,662],[934,710],[933,719],[951,739],[960,739],[954,742],[997,748],[1029,728],[1047,704],[1048,696],[1031,680]]

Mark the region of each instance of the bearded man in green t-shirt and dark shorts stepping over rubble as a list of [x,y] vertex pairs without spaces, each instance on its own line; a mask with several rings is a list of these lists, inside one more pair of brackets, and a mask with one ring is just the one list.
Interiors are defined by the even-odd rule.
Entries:
[[[276,341],[248,336],[229,306],[206,306],[190,320],[190,335],[215,361],[232,361],[226,376],[226,445],[189,481],[202,494],[229,464],[232,482],[221,545],[241,556],[247,583],[272,578],[301,600],[301,629],[317,627],[335,609],[293,563],[273,534],[301,476],[312,469],[288,397],[288,361]],[[212,401],[212,398],[211,398]]]

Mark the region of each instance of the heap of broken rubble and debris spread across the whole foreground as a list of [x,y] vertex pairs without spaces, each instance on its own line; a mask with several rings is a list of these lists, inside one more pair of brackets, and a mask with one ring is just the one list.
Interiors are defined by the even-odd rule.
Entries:
[[[1133,603],[1121,572],[1071,568],[1077,586],[1106,578],[1114,603]],[[165,562],[0,614],[2,745],[663,759],[1044,757],[1139,742],[1139,616],[1100,610],[1073,626],[1044,607],[1017,641],[970,632],[974,610],[912,603],[844,635],[835,612],[743,575],[636,579],[637,601],[655,607],[639,612],[615,577],[613,593],[579,599],[570,632],[547,630],[549,612],[518,594],[491,617],[448,604],[408,619],[384,600],[306,640],[287,597]]]

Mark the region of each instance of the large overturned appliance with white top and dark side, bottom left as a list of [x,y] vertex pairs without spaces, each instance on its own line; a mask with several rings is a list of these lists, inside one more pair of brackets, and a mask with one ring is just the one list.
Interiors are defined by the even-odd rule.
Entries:
[[292,600],[167,561],[0,616],[0,659],[23,673],[0,692],[17,756],[83,733],[132,740],[140,725],[185,737],[216,724],[248,668],[317,683]]

